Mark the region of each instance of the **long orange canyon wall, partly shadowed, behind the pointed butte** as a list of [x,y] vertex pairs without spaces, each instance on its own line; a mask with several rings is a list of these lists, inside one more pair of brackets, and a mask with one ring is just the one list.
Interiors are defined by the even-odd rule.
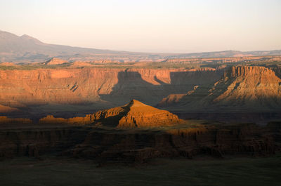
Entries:
[[[156,105],[171,93],[214,84],[221,71],[211,69],[30,69],[0,70],[0,104],[10,107],[41,105],[48,111],[65,105],[105,109],[133,98]],[[39,109],[34,109],[39,112]]]

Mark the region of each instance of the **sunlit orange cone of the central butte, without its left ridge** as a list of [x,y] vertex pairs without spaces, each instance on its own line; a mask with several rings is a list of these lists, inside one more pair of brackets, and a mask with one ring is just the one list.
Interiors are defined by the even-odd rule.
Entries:
[[124,107],[128,110],[119,120],[117,127],[171,126],[181,121],[175,114],[131,100]]

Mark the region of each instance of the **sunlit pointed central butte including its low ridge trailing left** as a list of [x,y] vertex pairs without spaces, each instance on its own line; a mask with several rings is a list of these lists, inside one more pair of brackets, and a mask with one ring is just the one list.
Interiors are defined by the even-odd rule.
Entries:
[[175,114],[145,105],[138,100],[131,100],[121,107],[87,114],[86,117],[63,119],[47,116],[39,120],[39,124],[93,124],[118,128],[171,126],[179,123],[183,123],[183,121],[178,119]]

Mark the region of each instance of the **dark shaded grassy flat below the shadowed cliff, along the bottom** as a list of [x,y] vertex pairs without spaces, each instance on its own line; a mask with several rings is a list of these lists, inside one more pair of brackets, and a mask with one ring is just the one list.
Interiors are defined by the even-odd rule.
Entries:
[[145,166],[101,168],[90,160],[0,161],[1,185],[281,185],[281,154],[267,158],[157,159]]

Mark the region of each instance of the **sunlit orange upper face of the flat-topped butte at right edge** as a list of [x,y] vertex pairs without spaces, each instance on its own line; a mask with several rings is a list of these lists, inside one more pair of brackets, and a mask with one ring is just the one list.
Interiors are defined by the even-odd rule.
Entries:
[[245,105],[259,107],[281,104],[281,79],[265,67],[232,67],[214,86],[213,93],[225,85],[228,86],[226,91],[218,95],[214,102],[244,102]]

